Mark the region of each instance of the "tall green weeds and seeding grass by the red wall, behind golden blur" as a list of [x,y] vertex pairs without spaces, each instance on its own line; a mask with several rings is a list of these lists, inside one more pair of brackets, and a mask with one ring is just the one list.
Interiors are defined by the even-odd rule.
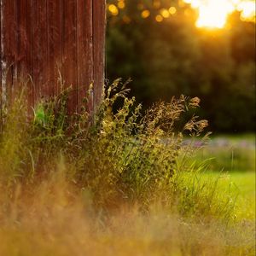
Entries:
[[96,113],[86,110],[88,98],[79,113],[68,115],[67,89],[39,102],[32,118],[21,94],[3,120],[0,171],[7,184],[40,183],[62,159],[67,181],[89,194],[95,207],[137,203],[147,211],[160,201],[183,216],[231,214],[230,197],[220,214],[214,182],[195,182],[200,168],[187,165],[191,148],[183,134],[198,137],[207,126],[191,115],[198,98],[172,98],[142,115],[142,106],[127,96],[126,83],[116,80],[103,91]]

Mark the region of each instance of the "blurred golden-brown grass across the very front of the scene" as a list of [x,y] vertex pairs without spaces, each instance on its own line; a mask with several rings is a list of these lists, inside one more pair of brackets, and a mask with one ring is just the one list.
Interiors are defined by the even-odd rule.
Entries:
[[[0,196],[0,255],[253,255],[253,240],[216,222],[195,223],[159,203],[95,209],[63,172]],[[244,228],[243,228],[244,229]],[[239,253],[239,254],[237,254]]]

